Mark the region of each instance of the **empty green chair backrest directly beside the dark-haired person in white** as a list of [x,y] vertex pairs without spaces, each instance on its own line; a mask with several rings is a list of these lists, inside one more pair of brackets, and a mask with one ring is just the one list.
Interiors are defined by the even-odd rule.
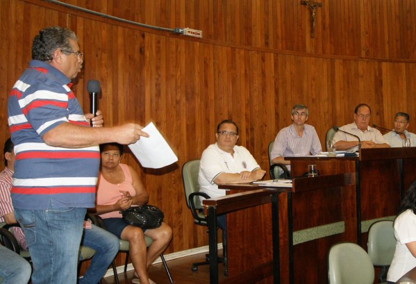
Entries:
[[374,222],[368,229],[367,251],[375,266],[388,266],[396,249],[393,222],[382,220]]

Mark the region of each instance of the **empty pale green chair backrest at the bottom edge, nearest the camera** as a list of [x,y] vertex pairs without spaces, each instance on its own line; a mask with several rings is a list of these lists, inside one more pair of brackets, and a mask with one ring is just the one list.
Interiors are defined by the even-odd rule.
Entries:
[[367,252],[358,244],[334,244],[328,254],[328,279],[330,284],[372,284],[374,267]]

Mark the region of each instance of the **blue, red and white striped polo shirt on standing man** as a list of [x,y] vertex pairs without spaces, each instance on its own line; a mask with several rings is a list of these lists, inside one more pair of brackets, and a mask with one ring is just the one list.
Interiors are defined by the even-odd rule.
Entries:
[[46,62],[31,60],[8,97],[8,125],[15,144],[13,206],[40,210],[94,207],[99,147],[51,147],[42,135],[69,122],[89,127],[72,83]]

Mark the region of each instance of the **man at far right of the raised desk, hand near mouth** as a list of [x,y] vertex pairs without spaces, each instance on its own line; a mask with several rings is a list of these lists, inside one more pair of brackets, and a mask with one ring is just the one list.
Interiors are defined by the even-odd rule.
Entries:
[[410,117],[406,112],[397,112],[396,115],[394,115],[393,131],[385,133],[384,135],[385,139],[388,141],[388,144],[390,144],[390,147],[403,147],[403,139],[405,138],[410,138],[410,146],[416,147],[416,134],[407,131],[409,122]]

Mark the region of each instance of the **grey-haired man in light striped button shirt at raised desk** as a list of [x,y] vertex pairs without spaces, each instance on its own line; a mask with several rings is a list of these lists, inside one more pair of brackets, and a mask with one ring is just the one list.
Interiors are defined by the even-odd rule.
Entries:
[[285,157],[299,157],[316,155],[322,152],[321,142],[315,127],[306,124],[309,118],[309,109],[304,104],[296,104],[290,112],[292,124],[278,131],[270,152],[272,163],[288,165],[290,160]]

